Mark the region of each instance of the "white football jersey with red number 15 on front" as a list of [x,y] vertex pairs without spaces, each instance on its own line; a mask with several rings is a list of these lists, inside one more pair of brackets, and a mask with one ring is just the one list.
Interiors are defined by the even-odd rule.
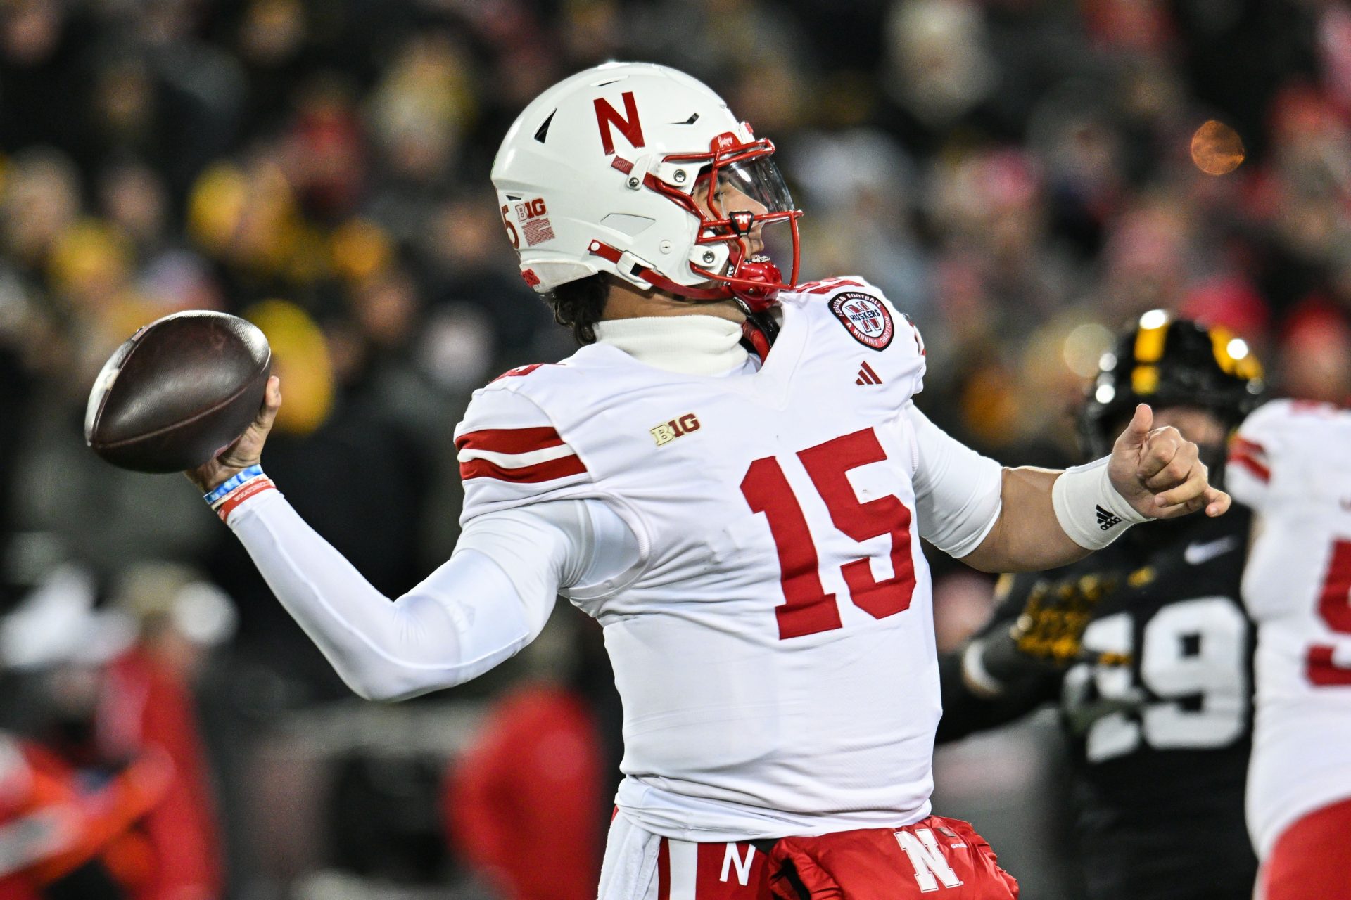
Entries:
[[923,343],[857,279],[781,301],[754,374],[681,375],[592,344],[499,378],[457,429],[465,524],[590,498],[638,536],[627,573],[562,592],[604,625],[619,803],[666,837],[929,812],[939,684],[901,414]]

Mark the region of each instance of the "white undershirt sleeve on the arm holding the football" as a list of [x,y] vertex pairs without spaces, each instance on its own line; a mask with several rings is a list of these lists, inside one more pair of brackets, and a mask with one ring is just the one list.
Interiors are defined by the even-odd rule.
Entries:
[[480,517],[450,560],[393,602],[277,491],[242,503],[230,528],[347,687],[404,700],[516,654],[543,630],[559,587],[631,565],[623,551],[632,542],[636,556],[636,540],[605,513],[596,501],[562,501]]

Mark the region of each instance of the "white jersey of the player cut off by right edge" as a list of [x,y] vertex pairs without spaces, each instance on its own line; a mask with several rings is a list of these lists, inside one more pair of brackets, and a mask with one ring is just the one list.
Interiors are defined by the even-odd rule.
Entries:
[[1351,797],[1351,412],[1270,402],[1225,471],[1258,513],[1243,576],[1258,626],[1247,807],[1265,857],[1298,818]]

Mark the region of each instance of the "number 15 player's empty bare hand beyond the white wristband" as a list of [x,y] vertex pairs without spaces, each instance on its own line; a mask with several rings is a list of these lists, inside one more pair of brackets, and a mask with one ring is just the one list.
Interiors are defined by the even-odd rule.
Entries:
[[1146,403],[1112,447],[1108,463],[1112,487],[1142,515],[1174,518],[1204,509],[1224,515],[1229,495],[1206,480],[1205,464],[1196,444],[1178,429],[1154,428],[1154,410]]

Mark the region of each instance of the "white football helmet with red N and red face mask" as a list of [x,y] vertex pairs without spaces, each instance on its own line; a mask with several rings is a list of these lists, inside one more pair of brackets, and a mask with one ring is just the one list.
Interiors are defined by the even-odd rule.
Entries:
[[[773,152],[703,82],[666,66],[611,62],[526,107],[492,178],[521,275],[536,291],[612,273],[639,287],[735,298],[762,312],[797,283],[801,210]],[[758,246],[769,223],[792,231],[786,282],[769,256],[747,254],[739,240]]]

